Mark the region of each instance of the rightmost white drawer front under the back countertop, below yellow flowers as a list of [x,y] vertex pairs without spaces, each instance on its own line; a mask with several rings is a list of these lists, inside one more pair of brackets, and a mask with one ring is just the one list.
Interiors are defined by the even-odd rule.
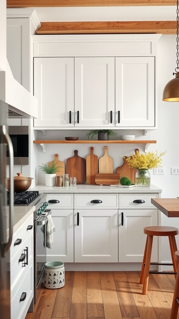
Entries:
[[[119,195],[119,208],[155,208],[151,203],[151,198],[158,198],[157,194],[123,194]],[[144,201],[143,203],[134,203],[134,201]]]

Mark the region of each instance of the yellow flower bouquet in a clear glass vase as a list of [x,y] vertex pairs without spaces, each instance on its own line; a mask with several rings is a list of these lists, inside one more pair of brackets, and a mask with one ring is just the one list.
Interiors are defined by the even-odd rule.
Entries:
[[129,167],[136,168],[138,171],[136,172],[136,186],[147,187],[150,186],[150,173],[148,169],[154,167],[161,167],[161,156],[163,156],[165,152],[158,151],[148,152],[148,153],[139,153],[139,150],[135,150],[135,154],[126,158],[126,162]]

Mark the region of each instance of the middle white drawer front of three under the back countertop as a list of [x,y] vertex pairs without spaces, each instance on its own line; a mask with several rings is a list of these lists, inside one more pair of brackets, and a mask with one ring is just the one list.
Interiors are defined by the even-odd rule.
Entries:
[[[97,203],[97,201],[101,201]],[[91,201],[94,201],[91,203]],[[75,208],[109,209],[118,208],[118,194],[76,194],[74,195]]]

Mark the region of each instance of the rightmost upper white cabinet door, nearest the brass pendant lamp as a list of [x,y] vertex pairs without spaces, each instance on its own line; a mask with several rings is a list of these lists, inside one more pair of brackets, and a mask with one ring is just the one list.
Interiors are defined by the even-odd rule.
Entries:
[[116,57],[115,61],[116,126],[155,126],[155,58]]

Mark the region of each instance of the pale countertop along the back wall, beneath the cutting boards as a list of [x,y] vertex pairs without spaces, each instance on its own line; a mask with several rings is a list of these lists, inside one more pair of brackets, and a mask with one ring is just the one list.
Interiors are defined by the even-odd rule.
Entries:
[[131,188],[119,188],[113,186],[99,186],[80,184],[76,186],[68,187],[56,187],[45,186],[45,184],[38,184],[32,188],[32,190],[38,190],[40,193],[161,193],[162,190],[154,185],[149,187],[131,187]]

